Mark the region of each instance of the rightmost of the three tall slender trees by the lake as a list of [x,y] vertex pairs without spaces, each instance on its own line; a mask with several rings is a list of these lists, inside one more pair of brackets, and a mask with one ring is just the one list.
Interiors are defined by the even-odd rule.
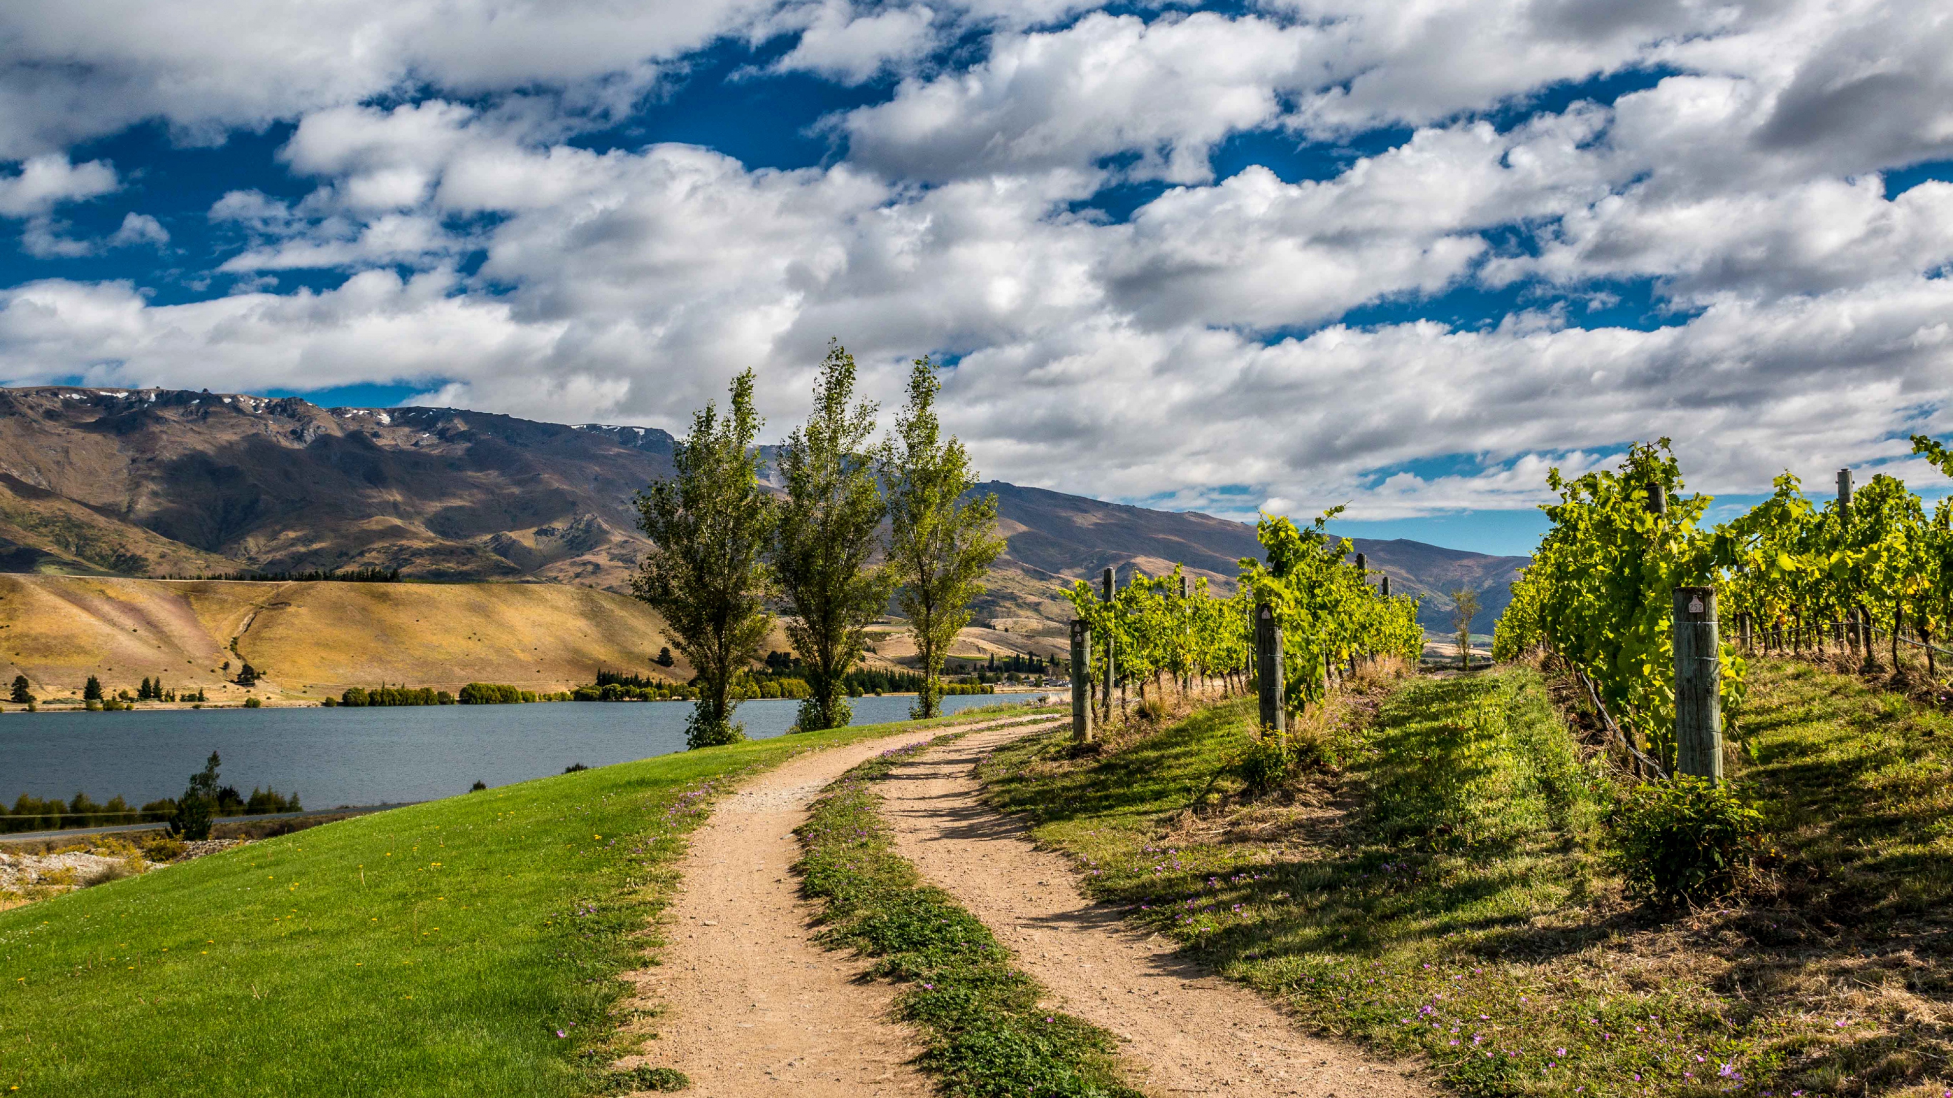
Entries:
[[965,498],[976,486],[969,451],[955,436],[941,438],[935,395],[941,383],[930,358],[908,375],[908,406],[883,447],[889,492],[889,567],[896,606],[908,615],[922,656],[922,697],[916,717],[935,717],[943,696],[943,660],[957,629],[969,625],[976,580],[1004,551],[996,537],[996,496]]

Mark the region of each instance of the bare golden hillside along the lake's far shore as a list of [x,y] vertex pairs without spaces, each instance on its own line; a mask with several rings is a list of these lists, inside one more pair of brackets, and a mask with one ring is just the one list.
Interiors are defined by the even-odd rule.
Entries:
[[109,690],[160,676],[234,701],[244,690],[227,680],[242,660],[264,674],[256,694],[291,701],[381,680],[566,690],[600,666],[660,674],[650,656],[664,643],[644,604],[564,584],[0,574],[0,674],[25,674],[41,697],[78,696],[98,674]]

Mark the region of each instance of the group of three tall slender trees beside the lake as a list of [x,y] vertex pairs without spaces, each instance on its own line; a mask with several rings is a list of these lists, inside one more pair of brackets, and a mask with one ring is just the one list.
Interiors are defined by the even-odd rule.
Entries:
[[762,420],[750,369],[732,379],[725,414],[705,404],[693,416],[691,434],[674,449],[672,479],[637,496],[652,545],[633,592],[664,615],[672,647],[697,672],[689,746],[744,739],[732,721],[734,682],[760,660],[775,600],[805,668],[803,731],[850,721],[848,674],[891,592],[922,664],[914,715],[939,711],[949,645],[982,594],[978,578],[1004,551],[994,533],[996,496],[965,498],[976,473],[963,443],[943,438],[941,383],[928,358],[914,361],[908,404],[881,443],[873,442],[877,406],[853,389],[853,356],[832,342],[814,408],[779,449],[783,500],[760,485]]

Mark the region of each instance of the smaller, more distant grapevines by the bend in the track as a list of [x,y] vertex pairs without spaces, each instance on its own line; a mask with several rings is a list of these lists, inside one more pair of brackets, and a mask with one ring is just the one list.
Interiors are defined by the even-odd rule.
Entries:
[[[1418,600],[1389,594],[1350,559],[1350,541],[1330,537],[1332,508],[1309,528],[1264,516],[1256,537],[1267,563],[1240,561],[1232,596],[1213,594],[1205,578],[1187,582],[1182,569],[1168,576],[1135,574],[1113,590],[1080,580],[1068,592],[1078,621],[1090,627],[1092,684],[1109,701],[1107,686],[1158,694],[1166,680],[1182,690],[1219,682],[1226,692],[1248,690],[1254,666],[1254,610],[1267,604],[1283,635],[1285,703],[1301,711],[1322,701],[1336,676],[1355,660],[1396,655],[1414,660],[1424,647]],[[1109,658],[1105,658],[1109,655]],[[1107,678],[1107,666],[1111,676]],[[1107,703],[1109,709],[1109,703]]]

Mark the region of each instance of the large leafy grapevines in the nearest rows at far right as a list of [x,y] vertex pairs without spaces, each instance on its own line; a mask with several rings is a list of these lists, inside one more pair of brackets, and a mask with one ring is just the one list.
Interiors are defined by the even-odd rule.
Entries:
[[[1912,451],[1953,477],[1953,453],[1926,436]],[[1590,692],[1603,725],[1648,776],[1678,766],[1676,588],[1713,588],[1719,703],[1740,719],[1744,653],[1826,649],[1879,670],[1916,649],[1937,680],[1933,641],[1953,615],[1953,500],[1926,506],[1902,481],[1875,475],[1859,490],[1812,504],[1785,473],[1750,512],[1705,526],[1711,496],[1683,496],[1668,440],[1639,443],[1615,471],[1566,481],[1543,510],[1553,528],[1512,586],[1492,656],[1545,651]]]

